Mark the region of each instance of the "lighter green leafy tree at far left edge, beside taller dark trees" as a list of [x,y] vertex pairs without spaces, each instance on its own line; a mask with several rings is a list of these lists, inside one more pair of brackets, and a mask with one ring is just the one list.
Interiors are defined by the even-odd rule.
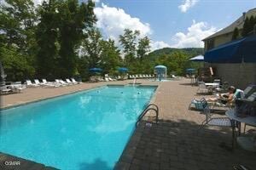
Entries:
[[[8,81],[33,77],[36,20],[32,0],[6,0],[0,3],[1,58]],[[26,64],[24,69],[29,70],[23,70],[21,74],[22,69],[9,69],[15,68],[14,64],[16,67]]]

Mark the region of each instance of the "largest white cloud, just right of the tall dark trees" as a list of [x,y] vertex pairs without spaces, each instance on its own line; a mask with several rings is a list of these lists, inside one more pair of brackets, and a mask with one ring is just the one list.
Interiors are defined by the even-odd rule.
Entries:
[[96,26],[101,29],[104,37],[112,38],[118,42],[119,35],[122,35],[124,29],[132,31],[138,30],[141,36],[150,35],[152,33],[148,23],[143,23],[136,17],[126,14],[122,8],[108,7],[102,3],[101,7],[94,9],[97,22]]

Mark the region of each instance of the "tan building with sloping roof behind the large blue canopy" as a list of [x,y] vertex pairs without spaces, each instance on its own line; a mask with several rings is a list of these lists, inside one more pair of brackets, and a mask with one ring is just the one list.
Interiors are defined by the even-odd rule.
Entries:
[[[212,36],[203,39],[205,42],[205,52],[212,48],[217,48],[227,42],[232,41],[234,30],[242,31],[244,21],[251,16],[256,17],[256,8],[248,10],[246,13],[242,13],[241,17],[233,22],[230,26],[225,27],[223,30],[218,31]],[[256,47],[255,47],[256,48]],[[256,84],[256,63],[241,63],[241,64],[215,64],[207,63],[206,66],[212,66],[214,68],[215,76],[222,79],[222,82],[229,82],[230,85],[234,85],[237,88],[246,88],[248,84]]]

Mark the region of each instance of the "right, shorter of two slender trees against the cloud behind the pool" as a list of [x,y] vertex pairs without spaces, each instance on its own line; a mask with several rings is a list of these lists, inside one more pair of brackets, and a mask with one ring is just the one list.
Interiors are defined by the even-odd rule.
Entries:
[[137,46],[137,57],[140,61],[143,61],[145,54],[150,51],[150,39],[146,36],[139,39],[138,46]]

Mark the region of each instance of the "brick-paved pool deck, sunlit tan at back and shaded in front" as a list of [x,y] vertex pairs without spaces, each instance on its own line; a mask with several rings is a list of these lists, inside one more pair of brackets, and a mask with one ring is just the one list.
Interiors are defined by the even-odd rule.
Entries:
[[[22,94],[2,96],[2,107],[52,98],[106,84],[128,82],[132,81],[83,83],[63,88],[27,88]],[[197,87],[192,87],[189,79],[172,82],[137,82],[159,85],[153,102],[160,108],[160,122],[153,123],[151,127],[145,126],[144,122],[139,124],[115,169],[231,170],[233,165],[239,164],[256,169],[256,153],[241,150],[237,146],[235,150],[227,150],[231,146],[230,128],[203,127],[201,131],[197,131],[205,116],[199,111],[189,111],[188,106],[191,99],[202,96],[195,94]],[[224,144],[228,147],[224,147]],[[7,155],[0,155],[0,165],[3,165],[4,156]]]

